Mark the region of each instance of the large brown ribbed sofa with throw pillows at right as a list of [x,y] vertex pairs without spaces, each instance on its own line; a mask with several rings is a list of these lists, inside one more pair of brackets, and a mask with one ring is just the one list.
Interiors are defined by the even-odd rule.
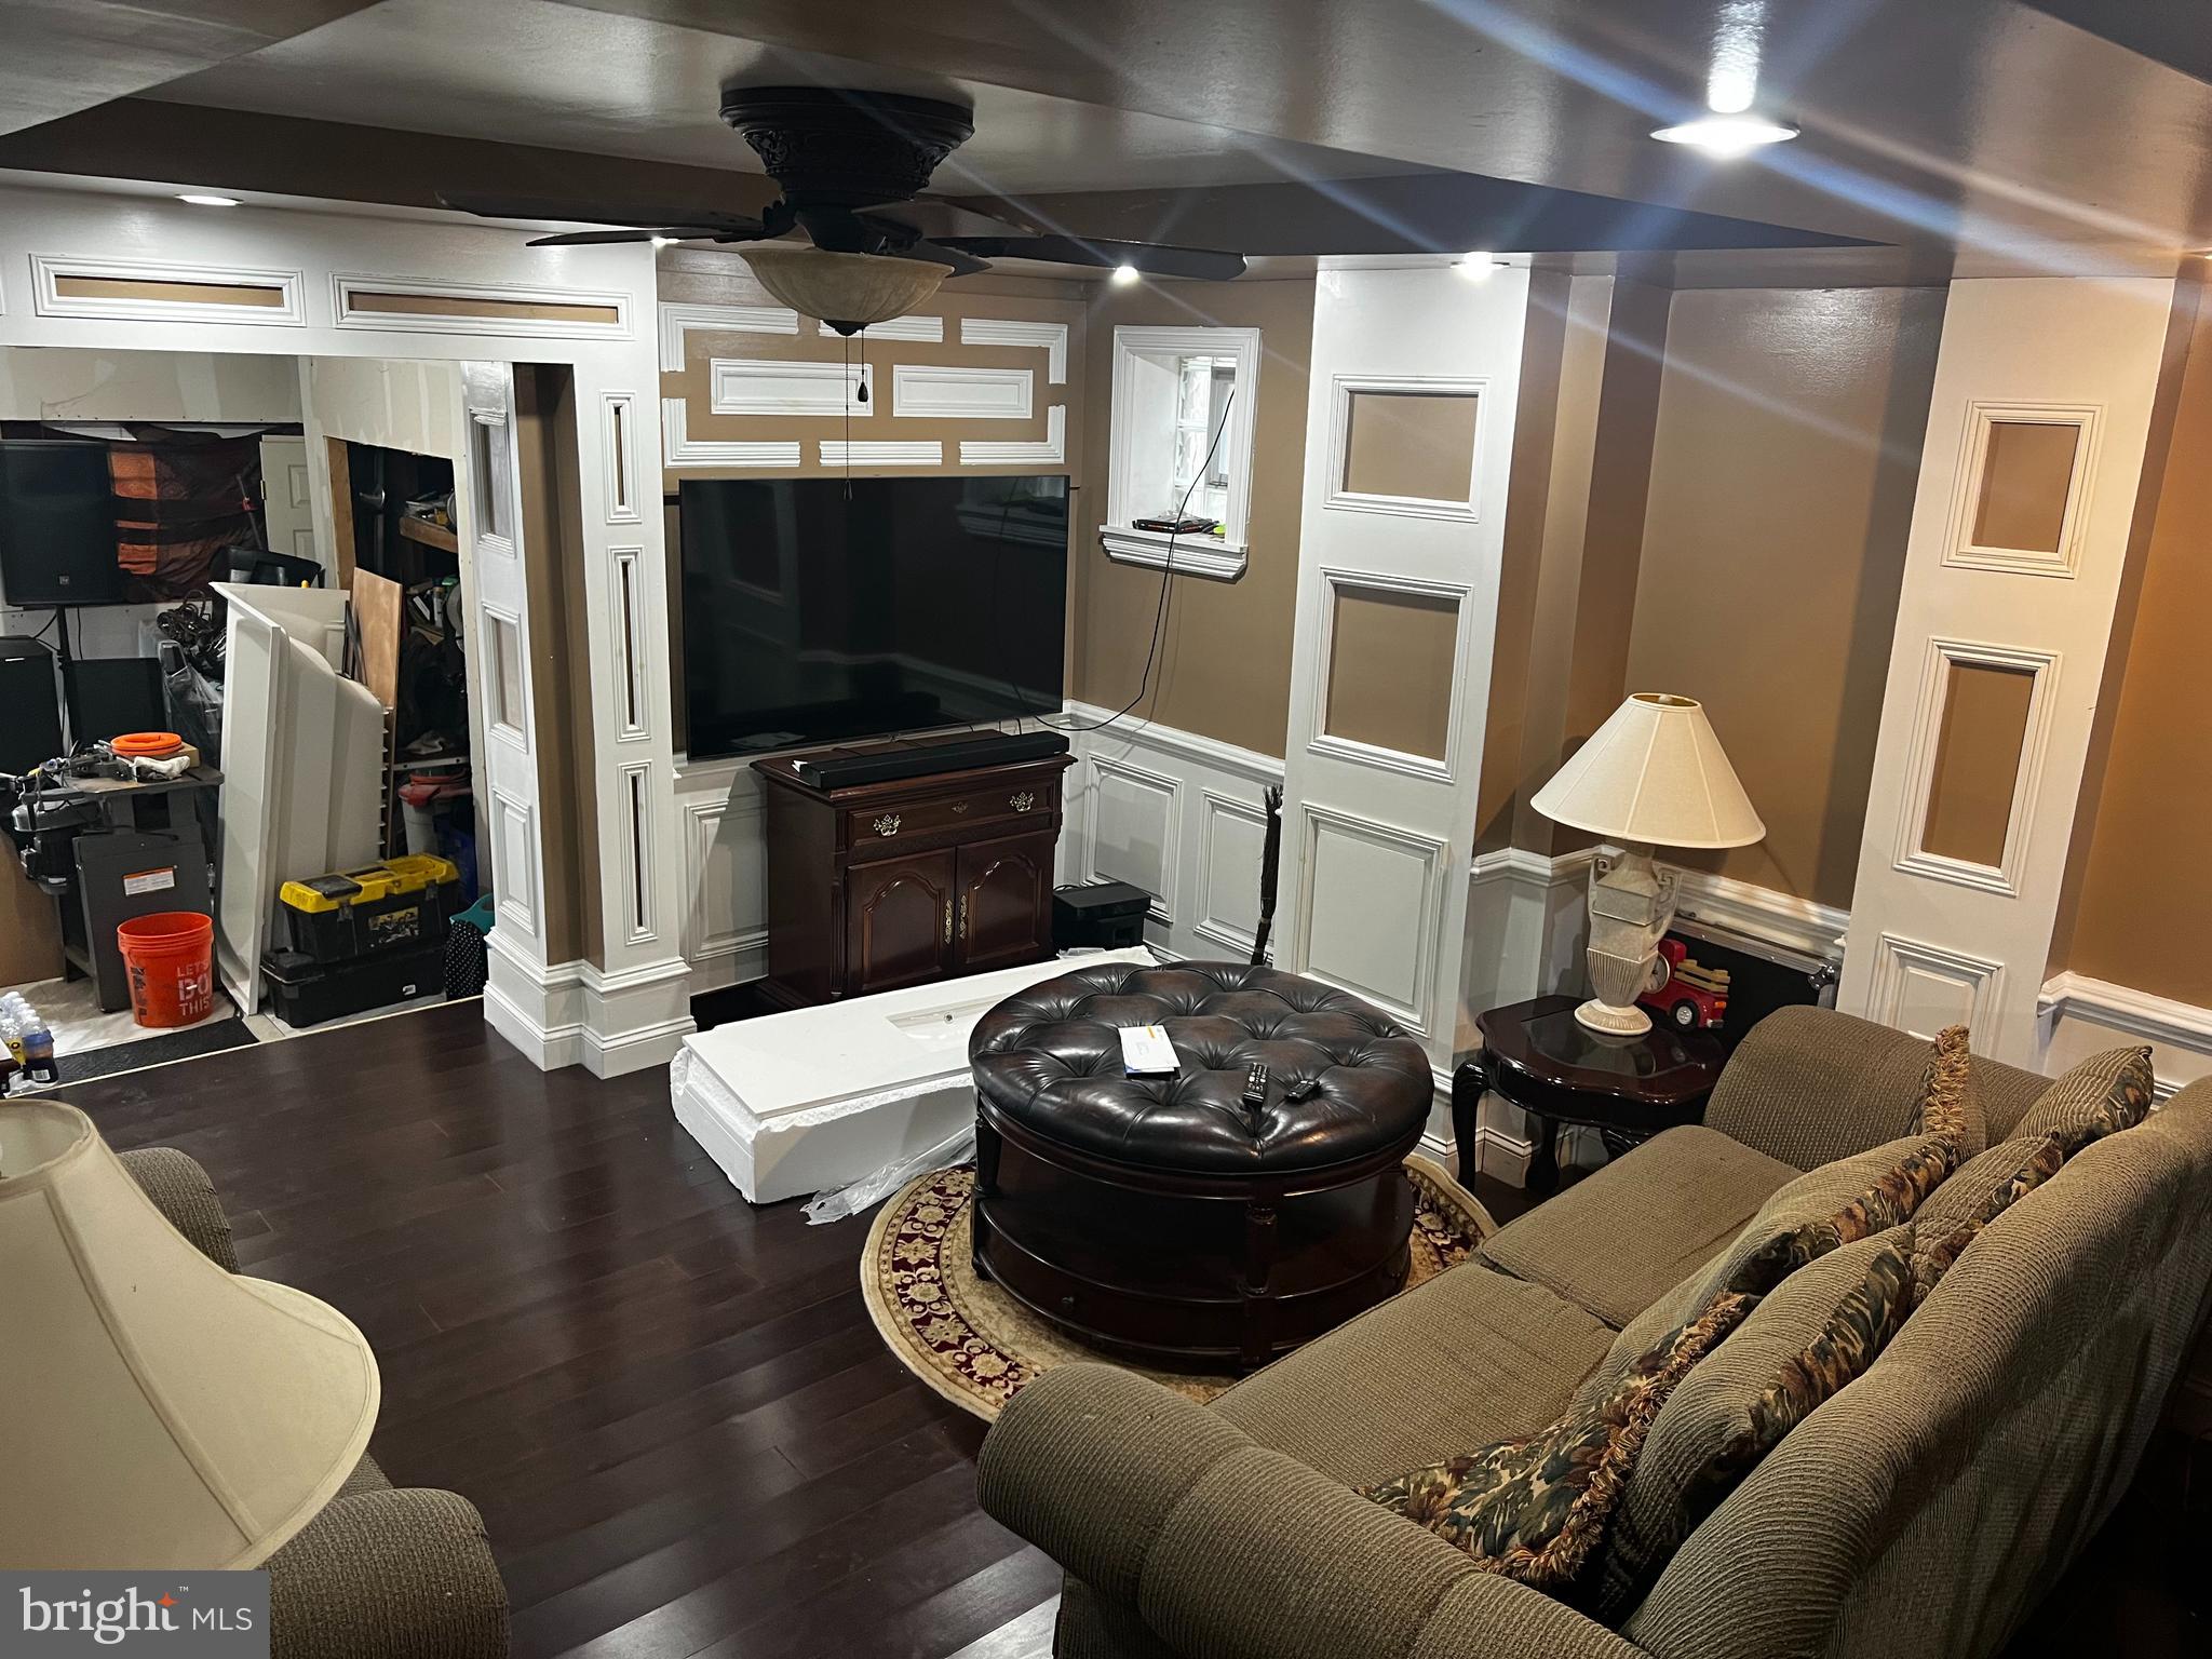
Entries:
[[[1763,1022],[1699,1128],[1212,1407],[1104,1365],[1024,1389],[984,1509],[1066,1568],[1068,1659],[1991,1655],[2126,1489],[2212,1283],[2212,1084],[2000,1214],[1874,1367],[1597,1624],[1356,1495],[1546,1425],[1785,1181],[1913,1128],[1927,1044]],[[1991,1141],[2046,1086],[1975,1062]],[[1657,1334],[1657,1332],[1655,1332]],[[1630,1338],[1632,1340],[1632,1338]]]

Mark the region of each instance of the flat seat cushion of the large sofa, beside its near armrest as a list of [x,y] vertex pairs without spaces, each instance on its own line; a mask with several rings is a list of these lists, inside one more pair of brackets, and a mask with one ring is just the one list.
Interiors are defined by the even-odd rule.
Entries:
[[1540,1429],[1610,1340],[1582,1307],[1469,1261],[1254,1371],[1214,1409],[1358,1486]]

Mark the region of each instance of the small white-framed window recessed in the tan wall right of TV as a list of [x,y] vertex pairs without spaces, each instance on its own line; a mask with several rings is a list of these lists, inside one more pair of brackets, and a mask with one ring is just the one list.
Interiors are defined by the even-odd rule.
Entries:
[[[1152,515],[1148,489],[1159,480],[1139,478],[1137,422],[1164,418],[1175,431],[1179,383],[1175,367],[1188,356],[1228,358],[1237,365],[1237,396],[1230,400],[1228,427],[1221,434],[1221,469],[1228,491],[1221,511],[1221,535],[1177,535],[1175,571],[1234,582],[1243,575],[1250,542],[1245,526],[1252,513],[1252,425],[1259,409],[1259,330],[1256,327],[1117,327],[1113,332],[1113,436],[1106,467],[1106,522],[1099,546],[1121,564],[1168,566],[1168,535],[1139,531],[1133,520]],[[1146,367],[1168,367],[1166,405],[1150,405],[1139,376]],[[1172,453],[1172,447],[1170,447]]]

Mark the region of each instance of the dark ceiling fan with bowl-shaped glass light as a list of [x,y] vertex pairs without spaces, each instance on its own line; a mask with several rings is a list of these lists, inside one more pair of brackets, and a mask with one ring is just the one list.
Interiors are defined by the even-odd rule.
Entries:
[[[476,192],[440,195],[440,201],[487,219],[615,226],[538,237],[531,248],[653,239],[750,243],[743,257],[761,285],[838,334],[900,316],[949,276],[991,270],[991,259],[1133,265],[1150,276],[1212,281],[1243,272],[1241,254],[1035,234],[993,215],[916,201],[938,164],[975,133],[973,111],[960,104],[823,86],[730,86],[721,95],[721,119],[783,188],[757,219],[717,208],[661,212],[637,204]],[[803,241],[785,241],[794,232]]]

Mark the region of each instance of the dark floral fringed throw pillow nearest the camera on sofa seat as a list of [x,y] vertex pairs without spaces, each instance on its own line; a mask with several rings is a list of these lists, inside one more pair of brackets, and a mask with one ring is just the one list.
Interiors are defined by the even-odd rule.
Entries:
[[1551,1427],[1360,1489],[1396,1515],[1467,1551],[1478,1566],[1571,1595],[1597,1559],[1652,1418],[1756,1296],[1717,1296],[1641,1354],[1601,1398]]

